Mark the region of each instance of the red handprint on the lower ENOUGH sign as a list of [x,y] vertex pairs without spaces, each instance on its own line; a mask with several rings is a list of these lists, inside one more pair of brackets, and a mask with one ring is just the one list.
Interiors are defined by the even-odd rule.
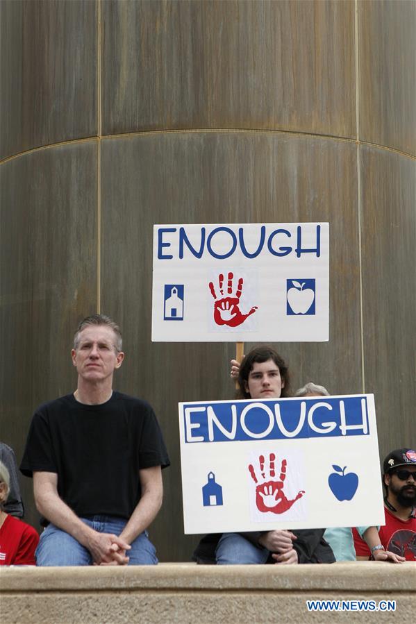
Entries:
[[[249,465],[249,473],[251,474],[251,478],[253,479],[253,481],[258,484],[258,486],[256,487],[257,509],[260,512],[273,512],[274,514],[283,514],[284,512],[287,512],[290,507],[292,507],[293,503],[295,503],[299,498],[302,498],[303,494],[305,494],[305,491],[299,491],[296,498],[292,498],[292,500],[288,500],[288,498],[285,497],[285,494],[283,492],[283,482],[286,478],[287,462],[285,459],[282,459],[280,481],[276,481],[274,479],[276,474],[274,470],[275,459],[276,455],[274,455],[274,453],[270,453],[269,472],[267,473],[267,471],[265,471],[264,455],[260,455],[260,457],[258,458],[260,474],[265,480],[263,481],[263,483],[258,484],[258,478],[252,464]],[[268,481],[266,480],[267,478],[269,478]]]

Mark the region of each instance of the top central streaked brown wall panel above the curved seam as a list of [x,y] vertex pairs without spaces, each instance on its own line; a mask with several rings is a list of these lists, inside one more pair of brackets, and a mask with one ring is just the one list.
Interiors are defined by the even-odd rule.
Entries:
[[355,136],[354,3],[103,3],[103,133]]

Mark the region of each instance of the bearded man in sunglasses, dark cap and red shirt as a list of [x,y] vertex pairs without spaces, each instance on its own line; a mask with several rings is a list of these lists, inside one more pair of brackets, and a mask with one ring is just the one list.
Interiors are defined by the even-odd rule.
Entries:
[[357,559],[374,558],[376,550],[389,550],[407,561],[416,561],[416,451],[397,448],[383,462],[385,525],[380,543],[369,547],[353,530]]

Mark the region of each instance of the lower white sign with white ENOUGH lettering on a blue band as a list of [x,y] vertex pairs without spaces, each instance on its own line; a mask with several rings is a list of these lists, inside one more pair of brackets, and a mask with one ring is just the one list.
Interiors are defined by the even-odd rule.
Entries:
[[185,533],[383,525],[374,396],[180,403]]

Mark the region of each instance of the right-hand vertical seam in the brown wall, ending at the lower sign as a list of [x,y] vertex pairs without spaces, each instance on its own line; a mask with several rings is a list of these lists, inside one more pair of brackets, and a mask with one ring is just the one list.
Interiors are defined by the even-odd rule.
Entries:
[[355,0],[355,60],[356,60],[356,163],[357,163],[357,208],[358,208],[358,264],[360,280],[360,342],[361,342],[361,385],[365,392],[364,320],[363,320],[363,256],[361,239],[361,160],[360,160],[360,63],[358,42],[358,0]]

